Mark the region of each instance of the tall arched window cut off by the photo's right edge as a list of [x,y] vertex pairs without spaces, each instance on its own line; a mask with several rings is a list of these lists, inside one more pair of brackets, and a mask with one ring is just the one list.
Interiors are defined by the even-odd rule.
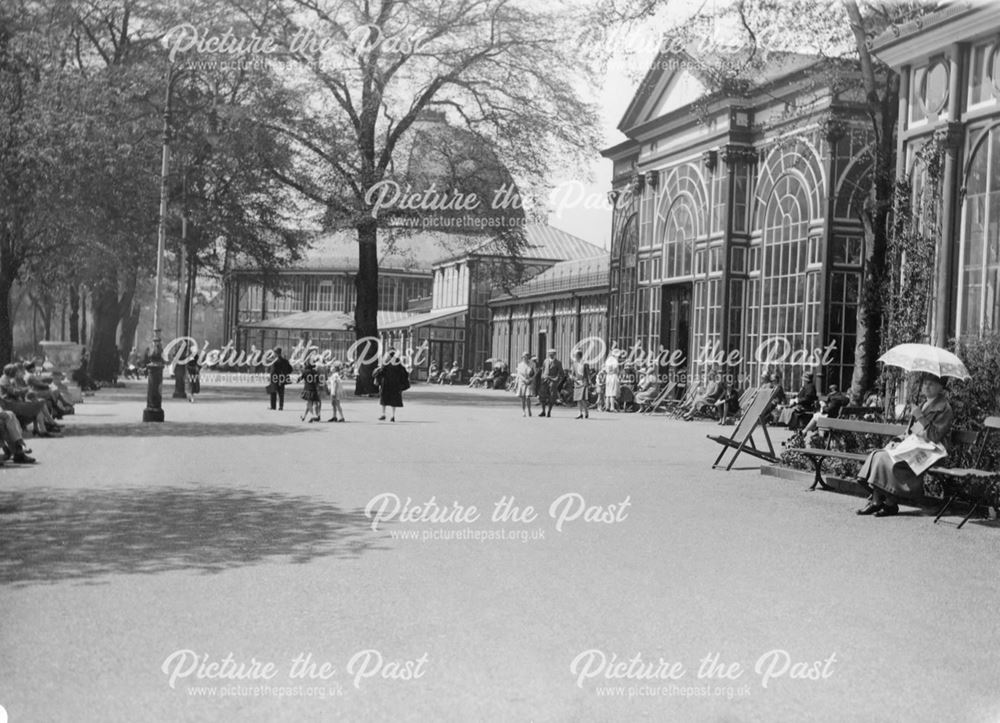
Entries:
[[980,138],[969,159],[958,293],[960,334],[1000,328],[1000,127]]

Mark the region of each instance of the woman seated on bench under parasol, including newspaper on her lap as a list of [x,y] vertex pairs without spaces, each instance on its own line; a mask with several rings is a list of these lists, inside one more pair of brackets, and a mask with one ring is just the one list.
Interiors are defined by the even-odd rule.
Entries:
[[868,505],[859,515],[890,517],[899,512],[899,498],[923,496],[923,473],[947,456],[944,447],[954,414],[944,394],[943,382],[924,376],[921,392],[925,401],[910,415],[906,437],[868,455],[858,471],[858,482],[872,490]]

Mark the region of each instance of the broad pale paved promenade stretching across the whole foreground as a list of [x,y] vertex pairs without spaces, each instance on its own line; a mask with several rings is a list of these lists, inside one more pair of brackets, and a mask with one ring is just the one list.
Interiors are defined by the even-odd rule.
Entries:
[[995,523],[713,471],[706,422],[288,396],[132,382],[0,469],[10,721],[1000,720]]

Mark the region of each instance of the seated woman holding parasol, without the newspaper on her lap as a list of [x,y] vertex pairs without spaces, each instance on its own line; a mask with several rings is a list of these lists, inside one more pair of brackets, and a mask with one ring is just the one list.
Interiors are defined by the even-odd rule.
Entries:
[[[944,394],[944,383],[927,374],[921,385],[926,401],[910,414],[907,435],[915,434],[928,442],[944,446],[951,433],[954,412]],[[858,471],[858,482],[872,490],[871,499],[859,515],[891,517],[899,513],[899,498],[923,497],[924,483],[921,475],[914,474],[906,462],[893,463],[884,449],[868,455]]]

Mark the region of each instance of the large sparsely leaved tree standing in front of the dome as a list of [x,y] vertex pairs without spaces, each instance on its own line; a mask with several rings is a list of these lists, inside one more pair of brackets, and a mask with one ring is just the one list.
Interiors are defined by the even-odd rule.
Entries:
[[[277,176],[323,211],[327,228],[358,238],[355,333],[378,333],[383,181],[405,187],[402,163],[421,114],[439,110],[492,147],[526,187],[596,146],[596,115],[582,98],[570,52],[569,5],[509,0],[234,2],[261,37],[277,39],[301,78],[266,122],[295,145],[296,168]],[[561,10],[561,12],[560,12]],[[323,52],[310,39],[326,44]],[[483,199],[489,203],[492,199]],[[515,250],[516,234],[508,234]],[[363,367],[356,393],[371,391]]]

